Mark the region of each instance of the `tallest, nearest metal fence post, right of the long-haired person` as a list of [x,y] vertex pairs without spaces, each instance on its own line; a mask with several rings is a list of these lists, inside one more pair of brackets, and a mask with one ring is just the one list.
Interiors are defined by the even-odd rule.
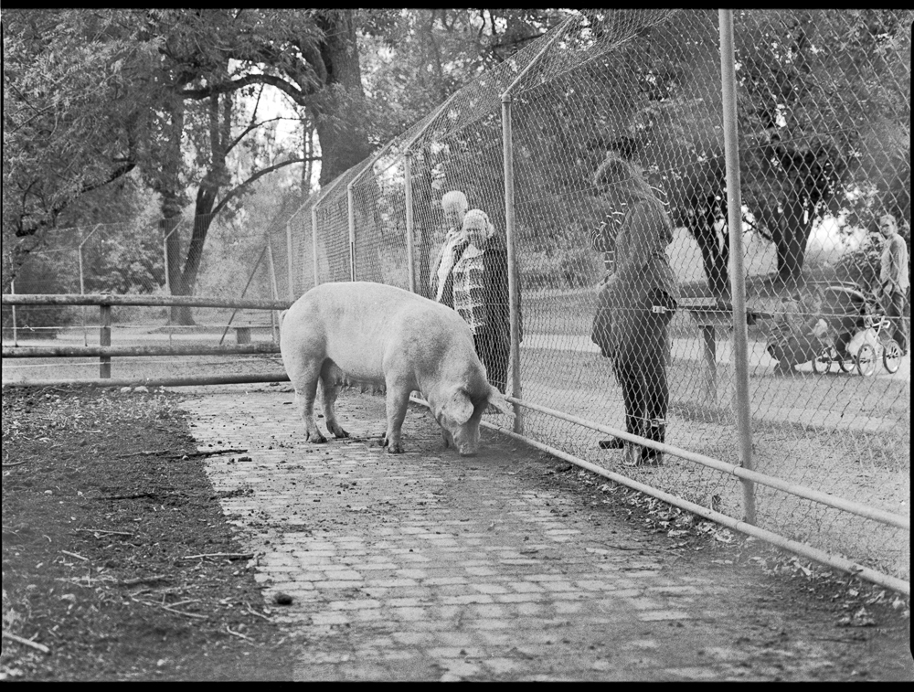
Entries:
[[[727,208],[730,227],[730,293],[733,300],[733,365],[739,463],[752,469],[752,428],[749,418],[749,335],[746,324],[746,275],[743,269],[742,196],[739,189],[737,82],[733,54],[733,10],[717,10],[720,25],[720,82],[723,95],[724,155],[727,161]],[[745,521],[755,524],[755,486],[743,479]]]

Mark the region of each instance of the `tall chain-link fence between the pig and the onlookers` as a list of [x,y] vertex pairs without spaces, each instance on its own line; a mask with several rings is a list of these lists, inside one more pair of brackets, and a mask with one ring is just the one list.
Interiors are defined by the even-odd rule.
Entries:
[[[879,328],[892,307],[877,229],[892,214],[909,244],[910,23],[907,11],[734,16],[752,462],[899,516],[909,516],[910,369],[901,320],[899,346]],[[661,439],[650,424],[663,421],[663,442],[739,463],[719,46],[716,11],[572,16],[309,199],[294,220],[294,293],[355,278],[441,299],[442,259],[460,261],[449,254],[480,218],[473,210],[494,229],[491,255],[508,240],[510,150],[522,340],[520,390],[509,393],[648,439]],[[614,168],[643,186],[626,192]],[[631,271],[644,214],[647,254],[661,273],[668,263],[678,292],[654,332],[631,326],[650,318],[625,289],[597,289]],[[903,291],[901,250],[897,259]],[[593,338],[600,300],[615,311],[615,358]],[[508,357],[495,350],[490,376]],[[604,433],[531,410],[523,425],[686,500],[746,512],[733,475],[669,454],[625,467],[630,452]],[[758,526],[908,578],[904,529],[760,484],[755,501]]]

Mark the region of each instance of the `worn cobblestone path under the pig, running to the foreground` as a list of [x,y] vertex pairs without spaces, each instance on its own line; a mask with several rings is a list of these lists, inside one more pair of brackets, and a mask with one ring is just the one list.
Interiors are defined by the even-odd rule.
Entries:
[[411,405],[407,453],[390,455],[366,437],[383,399],[352,391],[338,410],[353,438],[314,445],[283,389],[184,408],[201,448],[249,450],[209,475],[267,598],[292,596],[274,612],[302,637],[299,679],[909,679],[904,633],[861,639],[760,572],[683,556],[550,487],[523,445],[484,432],[461,458]]

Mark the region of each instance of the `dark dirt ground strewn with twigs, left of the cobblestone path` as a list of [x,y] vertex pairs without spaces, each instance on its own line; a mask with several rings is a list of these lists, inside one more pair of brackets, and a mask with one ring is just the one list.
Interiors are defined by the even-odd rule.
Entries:
[[0,676],[291,675],[177,400],[4,389]]

